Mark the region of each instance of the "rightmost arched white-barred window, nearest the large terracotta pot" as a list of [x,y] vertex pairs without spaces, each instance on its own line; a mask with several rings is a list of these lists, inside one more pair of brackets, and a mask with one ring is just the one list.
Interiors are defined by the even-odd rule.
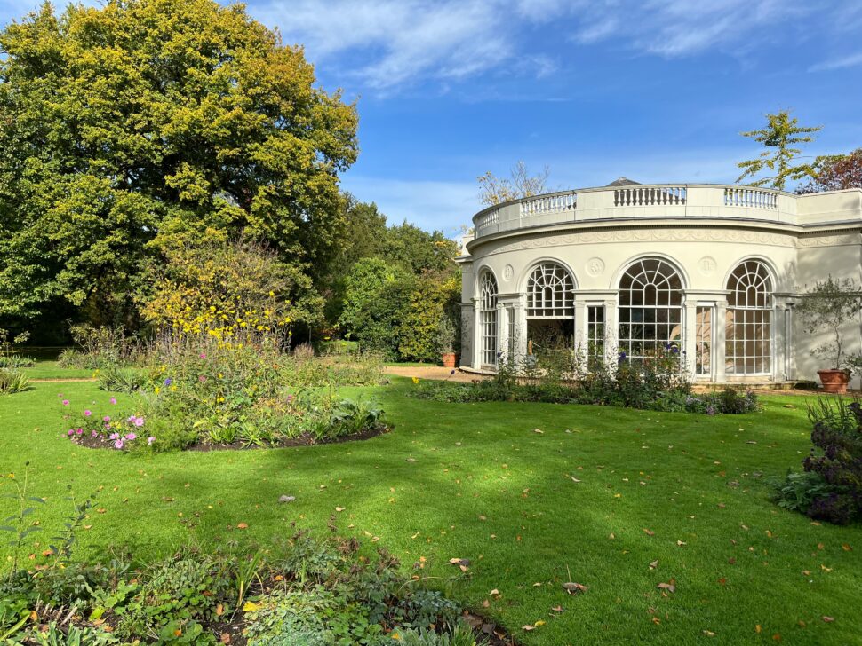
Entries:
[[772,371],[772,278],[757,260],[740,264],[727,281],[724,360],[727,374]]

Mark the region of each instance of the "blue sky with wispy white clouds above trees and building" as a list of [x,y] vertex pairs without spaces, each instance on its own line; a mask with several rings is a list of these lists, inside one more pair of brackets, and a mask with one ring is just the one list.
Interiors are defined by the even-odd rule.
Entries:
[[[4,22],[36,3],[0,0]],[[811,154],[862,146],[859,0],[251,0],[360,114],[343,186],[454,234],[476,177],[732,182],[741,130],[793,109]]]

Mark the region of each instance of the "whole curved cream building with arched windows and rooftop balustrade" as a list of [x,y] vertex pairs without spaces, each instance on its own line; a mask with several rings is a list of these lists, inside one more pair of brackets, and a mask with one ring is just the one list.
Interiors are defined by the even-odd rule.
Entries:
[[[465,238],[460,366],[571,344],[603,360],[670,345],[704,382],[813,381],[824,339],[794,318],[832,275],[862,278],[862,190],[611,185],[483,209]],[[847,350],[862,347],[848,320]]]

